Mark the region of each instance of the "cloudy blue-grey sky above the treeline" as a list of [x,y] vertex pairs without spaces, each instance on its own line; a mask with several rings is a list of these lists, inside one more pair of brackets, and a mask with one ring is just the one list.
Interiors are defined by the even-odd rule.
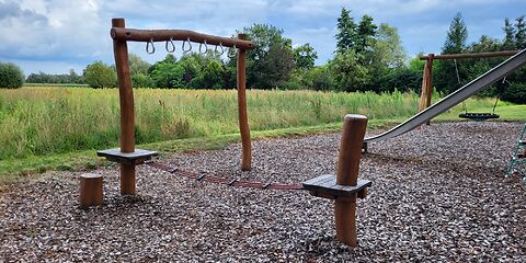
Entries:
[[[0,61],[18,64],[26,76],[69,69],[81,73],[94,60],[113,64],[111,19],[125,18],[127,27],[220,36],[268,23],[283,28],[293,45],[310,43],[320,65],[332,57],[342,7],[356,20],[369,14],[377,24],[396,26],[409,56],[439,53],[457,12],[468,26],[469,43],[483,34],[502,38],[504,19],[526,14],[526,0],[0,0]],[[161,43],[155,55],[146,54],[144,44],[128,47],[150,62],[167,54]]]

